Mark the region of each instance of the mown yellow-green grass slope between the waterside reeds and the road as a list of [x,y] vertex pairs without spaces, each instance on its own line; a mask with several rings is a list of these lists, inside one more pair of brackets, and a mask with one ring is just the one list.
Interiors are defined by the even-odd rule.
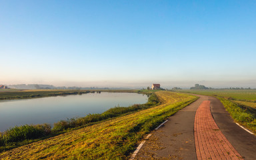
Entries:
[[161,105],[0,153],[1,159],[127,159],[143,136],[197,97],[155,93]]

